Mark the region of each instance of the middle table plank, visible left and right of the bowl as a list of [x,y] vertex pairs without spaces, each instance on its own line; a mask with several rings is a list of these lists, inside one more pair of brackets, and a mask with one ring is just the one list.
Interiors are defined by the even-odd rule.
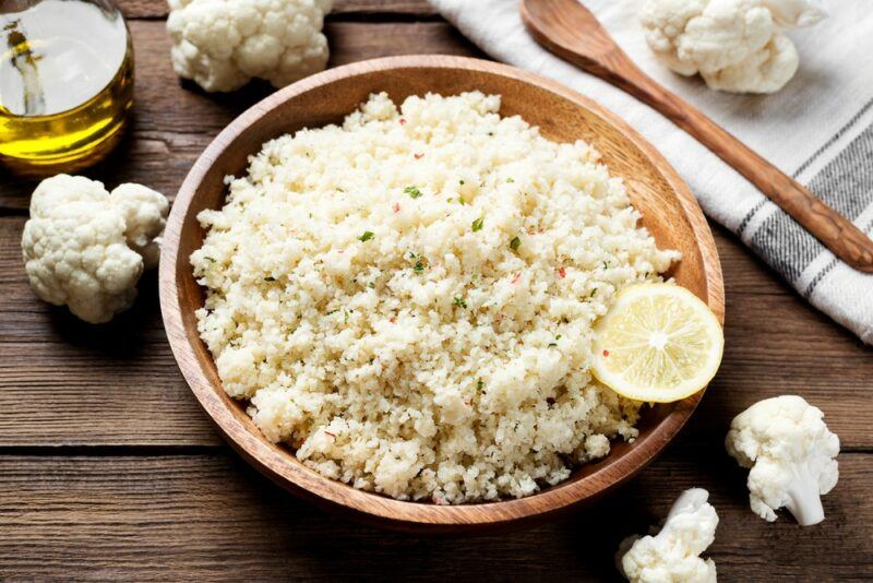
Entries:
[[[27,286],[24,221],[0,218],[0,445],[218,443],[167,345],[154,274],[132,312],[108,326],[79,322]],[[797,393],[825,411],[844,448],[873,448],[859,413],[870,411],[869,350],[784,289],[738,241],[721,230],[716,240],[728,260],[725,364],[685,432],[720,439],[745,406]],[[737,287],[734,273],[757,283]]]

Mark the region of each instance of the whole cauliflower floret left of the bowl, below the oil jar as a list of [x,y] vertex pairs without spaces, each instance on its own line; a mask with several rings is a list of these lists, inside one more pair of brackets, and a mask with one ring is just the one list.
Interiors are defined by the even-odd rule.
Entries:
[[136,185],[109,194],[81,176],[43,180],[21,241],[31,288],[86,322],[108,322],[133,305],[143,270],[157,263],[167,207]]

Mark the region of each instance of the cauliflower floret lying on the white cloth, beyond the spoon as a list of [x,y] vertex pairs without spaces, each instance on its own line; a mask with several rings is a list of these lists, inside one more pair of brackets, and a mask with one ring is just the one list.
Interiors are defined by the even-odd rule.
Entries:
[[736,93],[785,86],[799,58],[781,31],[823,16],[810,0],[645,0],[641,9],[646,41],[667,67]]

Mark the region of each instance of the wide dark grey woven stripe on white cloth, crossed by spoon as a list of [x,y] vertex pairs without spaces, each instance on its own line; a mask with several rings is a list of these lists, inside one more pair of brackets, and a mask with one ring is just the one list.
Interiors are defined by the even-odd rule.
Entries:
[[[856,219],[873,202],[873,126],[828,162],[809,186],[823,202],[850,221]],[[794,282],[825,250],[781,210],[764,221],[750,245],[789,282]],[[812,289],[806,291],[811,294]]]

